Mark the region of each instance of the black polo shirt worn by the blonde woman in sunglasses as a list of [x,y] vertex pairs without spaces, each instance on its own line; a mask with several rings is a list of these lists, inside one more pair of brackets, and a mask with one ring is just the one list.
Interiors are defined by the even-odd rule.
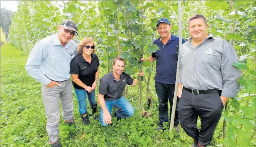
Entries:
[[[98,71],[99,58],[96,54],[91,54],[91,62],[87,62],[82,54],[76,55],[70,63],[70,74],[78,74],[78,78],[87,86],[92,86],[95,81],[95,73]],[[84,89],[72,81],[74,88]]]

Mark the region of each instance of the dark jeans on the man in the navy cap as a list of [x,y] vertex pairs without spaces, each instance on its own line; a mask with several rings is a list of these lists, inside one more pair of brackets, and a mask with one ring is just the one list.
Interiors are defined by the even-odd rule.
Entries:
[[[163,125],[163,122],[168,122],[168,99],[171,105],[170,108],[170,119],[171,119],[171,109],[172,109],[172,102],[175,90],[175,84],[164,84],[155,81],[156,87],[156,94],[159,101],[159,124]],[[175,109],[175,119],[174,119],[174,126],[178,126],[179,124],[179,113],[178,113],[178,102],[179,98],[177,98],[176,109]]]

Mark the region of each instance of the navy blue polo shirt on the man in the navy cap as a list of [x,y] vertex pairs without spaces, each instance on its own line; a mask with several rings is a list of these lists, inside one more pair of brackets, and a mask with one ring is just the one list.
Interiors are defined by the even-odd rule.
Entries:
[[[182,39],[183,43],[185,43],[184,39]],[[156,58],[155,81],[165,84],[175,84],[179,37],[171,34],[171,39],[166,44],[163,44],[159,37],[153,44],[159,47],[155,53],[152,53],[152,57]]]

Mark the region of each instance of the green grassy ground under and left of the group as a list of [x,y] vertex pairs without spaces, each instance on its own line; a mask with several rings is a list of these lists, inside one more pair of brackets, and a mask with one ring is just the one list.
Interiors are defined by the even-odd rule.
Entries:
[[[46,116],[41,98],[41,84],[30,77],[24,68],[28,55],[15,49],[10,43],[5,43],[0,50],[1,146],[49,147],[45,129]],[[100,77],[106,73],[105,71],[106,69],[100,69]],[[155,93],[153,85],[151,90]],[[136,91],[137,87],[129,87],[127,96],[128,101],[135,109]],[[73,96],[77,127],[67,126],[60,118],[60,142],[63,147],[188,147],[192,144],[191,137],[188,137],[181,127],[180,136],[169,134],[169,129],[156,131],[158,125],[156,96],[154,110],[150,118],[142,118],[136,110],[136,113],[126,120],[117,121],[116,118],[113,118],[113,125],[108,127],[101,127],[100,122],[92,117],[90,117],[90,125],[84,126],[80,120],[75,93]],[[90,105],[87,105],[87,109],[91,114]],[[223,119],[216,129],[214,140],[209,147],[221,147],[222,122]]]

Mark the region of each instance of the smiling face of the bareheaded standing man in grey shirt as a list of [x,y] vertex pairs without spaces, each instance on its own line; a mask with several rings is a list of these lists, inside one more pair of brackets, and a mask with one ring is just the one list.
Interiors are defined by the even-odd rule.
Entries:
[[192,40],[201,41],[207,38],[207,27],[208,25],[201,18],[191,20],[188,30]]

